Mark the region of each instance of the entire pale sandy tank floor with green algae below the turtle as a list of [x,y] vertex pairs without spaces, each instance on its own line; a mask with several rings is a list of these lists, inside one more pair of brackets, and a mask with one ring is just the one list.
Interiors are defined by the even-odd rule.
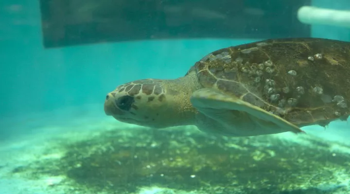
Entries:
[[248,138],[103,115],[37,128],[0,143],[1,194],[350,193],[347,122]]

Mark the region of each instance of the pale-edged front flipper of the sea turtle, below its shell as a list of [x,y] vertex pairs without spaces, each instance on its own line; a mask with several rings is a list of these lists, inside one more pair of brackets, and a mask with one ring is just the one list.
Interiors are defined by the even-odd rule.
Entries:
[[191,103],[198,110],[196,125],[205,132],[235,137],[303,132],[273,113],[215,89],[193,92]]

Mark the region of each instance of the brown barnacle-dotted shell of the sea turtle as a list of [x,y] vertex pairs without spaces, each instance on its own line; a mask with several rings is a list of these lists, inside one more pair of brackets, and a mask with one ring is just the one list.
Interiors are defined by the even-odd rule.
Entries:
[[196,71],[204,88],[275,113],[299,126],[328,125],[350,113],[350,43],[270,39],[210,53]]

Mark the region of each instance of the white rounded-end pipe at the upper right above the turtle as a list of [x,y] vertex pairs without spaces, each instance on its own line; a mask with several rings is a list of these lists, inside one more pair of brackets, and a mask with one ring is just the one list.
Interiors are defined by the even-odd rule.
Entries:
[[302,6],[297,18],[304,24],[324,24],[350,28],[350,11]]

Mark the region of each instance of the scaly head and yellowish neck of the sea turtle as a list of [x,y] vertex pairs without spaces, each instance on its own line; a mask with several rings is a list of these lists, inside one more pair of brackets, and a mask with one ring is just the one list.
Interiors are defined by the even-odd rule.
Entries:
[[175,80],[132,81],[108,93],[105,113],[144,127],[195,125],[196,110],[190,97],[199,88],[195,72]]

